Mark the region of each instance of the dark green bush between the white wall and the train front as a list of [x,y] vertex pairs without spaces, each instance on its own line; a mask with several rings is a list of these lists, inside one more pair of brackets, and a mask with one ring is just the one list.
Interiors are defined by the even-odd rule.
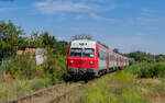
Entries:
[[64,81],[66,75],[66,56],[47,54],[47,59],[43,64],[45,76],[51,79],[52,84]]

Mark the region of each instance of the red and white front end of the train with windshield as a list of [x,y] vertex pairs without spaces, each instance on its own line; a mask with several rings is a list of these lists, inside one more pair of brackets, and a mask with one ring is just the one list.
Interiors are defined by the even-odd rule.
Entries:
[[98,68],[96,42],[73,41],[69,46],[67,69],[70,75],[96,75]]

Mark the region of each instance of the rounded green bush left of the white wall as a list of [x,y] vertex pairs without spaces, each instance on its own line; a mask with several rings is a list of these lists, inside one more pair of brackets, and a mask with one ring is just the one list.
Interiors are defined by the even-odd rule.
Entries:
[[36,65],[34,58],[26,55],[18,55],[13,57],[6,66],[6,72],[12,78],[32,78],[35,76]]

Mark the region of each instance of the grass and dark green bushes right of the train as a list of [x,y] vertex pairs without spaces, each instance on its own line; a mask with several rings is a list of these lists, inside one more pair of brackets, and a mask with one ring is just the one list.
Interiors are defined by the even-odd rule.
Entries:
[[96,81],[82,103],[164,103],[165,64],[135,64]]

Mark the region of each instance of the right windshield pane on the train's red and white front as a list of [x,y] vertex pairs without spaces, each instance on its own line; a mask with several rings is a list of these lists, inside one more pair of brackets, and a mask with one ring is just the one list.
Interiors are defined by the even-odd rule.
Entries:
[[95,57],[95,49],[94,48],[85,48],[82,50],[82,57]]

